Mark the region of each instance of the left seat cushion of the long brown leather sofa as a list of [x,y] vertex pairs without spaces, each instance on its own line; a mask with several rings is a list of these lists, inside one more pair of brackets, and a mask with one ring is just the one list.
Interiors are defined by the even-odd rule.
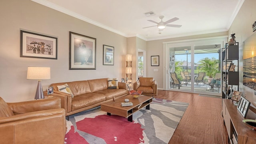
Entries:
[[72,98],[71,111],[78,110],[80,108],[85,108],[87,106],[92,106],[94,104],[104,102],[105,100],[106,96],[104,94],[88,93],[74,96],[74,98]]

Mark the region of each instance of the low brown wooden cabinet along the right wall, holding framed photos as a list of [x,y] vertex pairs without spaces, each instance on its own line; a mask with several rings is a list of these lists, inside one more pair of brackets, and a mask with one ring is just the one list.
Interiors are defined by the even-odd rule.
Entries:
[[238,112],[232,100],[222,99],[222,108],[230,144],[256,144],[256,130],[242,122],[245,118]]

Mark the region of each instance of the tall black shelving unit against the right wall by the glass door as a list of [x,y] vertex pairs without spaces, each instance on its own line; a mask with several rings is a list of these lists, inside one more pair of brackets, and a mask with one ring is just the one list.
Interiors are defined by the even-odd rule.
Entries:
[[[239,43],[222,48],[222,98],[227,98],[228,94],[232,90],[238,90],[239,88]],[[229,65],[234,64],[235,70],[229,71]],[[227,91],[227,88],[230,90]]]

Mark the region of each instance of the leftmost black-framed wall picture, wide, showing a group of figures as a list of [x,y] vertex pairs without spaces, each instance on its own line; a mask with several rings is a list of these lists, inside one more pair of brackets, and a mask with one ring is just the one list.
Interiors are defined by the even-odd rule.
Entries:
[[57,60],[57,43],[55,37],[20,30],[20,57]]

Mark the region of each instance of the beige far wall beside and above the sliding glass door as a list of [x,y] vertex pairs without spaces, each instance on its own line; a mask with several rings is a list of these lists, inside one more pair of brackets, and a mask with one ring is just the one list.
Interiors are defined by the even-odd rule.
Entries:
[[[178,40],[190,40],[196,38],[208,38],[208,37],[215,37],[215,36],[226,36],[228,32],[218,32],[212,34],[201,34],[195,36],[186,36],[186,37],[179,37],[179,38],[169,38],[163,40],[152,40],[147,42],[147,77],[154,77],[157,81],[158,89],[163,89],[163,42],[171,42],[171,41],[178,41]],[[151,66],[151,56],[159,56],[159,66]],[[158,69],[158,72],[154,69]]]

